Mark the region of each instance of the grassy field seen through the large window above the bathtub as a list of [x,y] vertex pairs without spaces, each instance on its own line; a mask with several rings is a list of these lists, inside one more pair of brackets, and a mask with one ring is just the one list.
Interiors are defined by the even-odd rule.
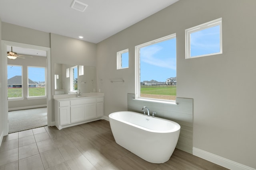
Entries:
[[141,86],[140,93],[176,96],[176,86]]

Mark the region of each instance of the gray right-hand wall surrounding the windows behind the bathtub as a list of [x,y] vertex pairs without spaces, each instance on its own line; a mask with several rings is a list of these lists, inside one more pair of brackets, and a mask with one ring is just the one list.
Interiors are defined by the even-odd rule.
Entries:
[[[134,46],[176,33],[177,97],[192,98],[193,147],[256,168],[256,1],[180,0],[98,43],[105,115],[127,110],[134,94]],[[223,54],[185,60],[185,29],[222,17]],[[116,52],[129,48],[129,68]],[[110,83],[122,78],[124,83]]]

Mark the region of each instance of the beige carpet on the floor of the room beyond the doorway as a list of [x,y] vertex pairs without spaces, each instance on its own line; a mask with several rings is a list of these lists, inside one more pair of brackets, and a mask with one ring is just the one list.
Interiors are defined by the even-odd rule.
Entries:
[[9,133],[47,125],[47,107],[8,112]]

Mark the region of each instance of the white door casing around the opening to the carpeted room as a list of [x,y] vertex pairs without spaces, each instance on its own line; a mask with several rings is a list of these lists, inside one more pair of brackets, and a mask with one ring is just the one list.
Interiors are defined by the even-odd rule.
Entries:
[[[47,125],[51,126],[52,125],[52,104],[51,104],[51,76],[50,76],[50,48],[48,47],[41,47],[41,46],[36,46],[36,45],[29,45],[29,44],[23,44],[23,43],[16,43],[16,42],[11,42],[11,41],[4,41],[2,40],[2,66],[3,66],[3,76],[2,76],[2,86],[6,88],[2,88],[2,104],[3,104],[3,111],[4,111],[4,135],[8,135],[9,132],[9,125],[8,125],[8,78],[7,78],[7,66],[8,66],[8,59],[7,59],[7,52],[8,52],[8,47],[19,47],[23,49],[31,49],[35,51],[44,51],[46,53],[46,81],[45,81],[45,96],[44,98],[46,99],[46,108],[47,108]],[[26,54],[22,52],[22,54]],[[17,61],[18,62],[18,61]],[[35,85],[35,84],[34,84]],[[29,86],[33,86],[33,84],[27,84],[27,88]],[[38,84],[36,84],[38,86]],[[27,92],[28,94],[29,92]],[[29,94],[28,94],[29,96]],[[31,96],[30,96],[31,97]],[[24,98],[24,96],[23,96]],[[38,97],[38,99],[40,96]],[[43,97],[42,97],[43,98]],[[15,101],[15,100],[14,100]],[[33,99],[30,99],[30,102],[34,101]],[[40,104],[38,104],[40,105]],[[21,106],[16,106],[16,107],[21,107]],[[28,106],[30,107],[30,106]],[[26,109],[25,107],[22,107],[22,109]],[[31,109],[31,108],[27,108]]]

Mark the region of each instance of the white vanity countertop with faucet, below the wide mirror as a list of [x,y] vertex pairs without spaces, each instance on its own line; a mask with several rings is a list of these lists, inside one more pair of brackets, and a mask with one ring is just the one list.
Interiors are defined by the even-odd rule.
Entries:
[[100,93],[100,92],[82,93],[80,97],[76,97],[76,94],[53,95],[53,99],[57,101],[80,99],[80,98],[96,98],[96,97],[104,97],[104,93]]

